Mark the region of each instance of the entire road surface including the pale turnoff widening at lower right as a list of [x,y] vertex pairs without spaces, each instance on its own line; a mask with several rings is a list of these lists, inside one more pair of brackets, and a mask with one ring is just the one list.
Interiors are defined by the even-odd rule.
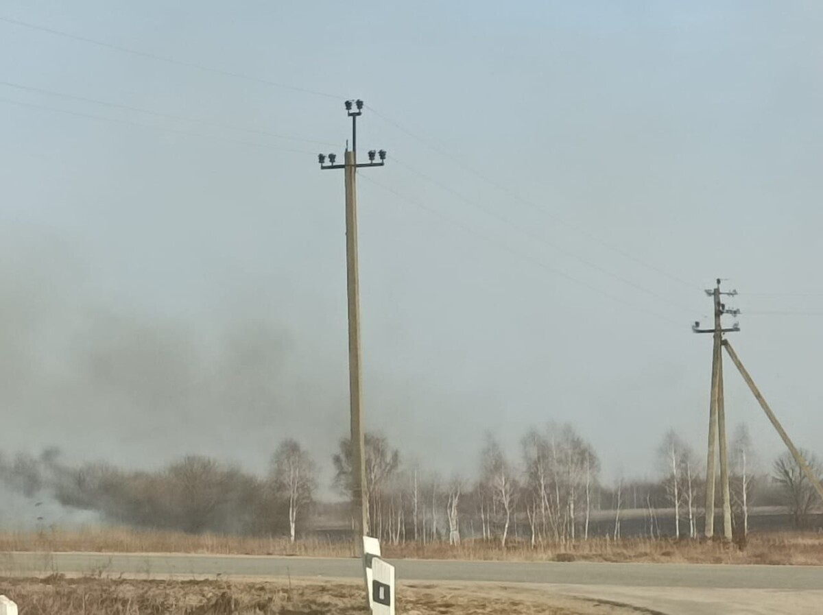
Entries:
[[[398,580],[528,584],[615,599],[667,615],[823,612],[823,566],[598,562],[393,562]],[[164,553],[3,553],[0,574],[328,577],[358,579],[360,561]],[[525,587],[526,585],[523,585]]]

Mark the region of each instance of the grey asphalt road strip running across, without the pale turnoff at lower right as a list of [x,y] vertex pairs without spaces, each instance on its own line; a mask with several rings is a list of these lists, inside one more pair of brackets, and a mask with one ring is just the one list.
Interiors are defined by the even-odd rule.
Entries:
[[[823,590],[823,566],[452,562],[402,560],[398,579],[491,581],[635,588]],[[359,578],[360,561],[123,553],[0,553],[0,575],[50,572],[146,576],[302,576]]]

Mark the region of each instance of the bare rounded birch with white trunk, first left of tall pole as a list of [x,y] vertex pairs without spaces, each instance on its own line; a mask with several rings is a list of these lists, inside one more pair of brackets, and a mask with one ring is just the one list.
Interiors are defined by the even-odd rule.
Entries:
[[272,455],[269,480],[277,495],[288,502],[289,536],[293,543],[300,515],[314,499],[317,466],[298,442],[287,439]]

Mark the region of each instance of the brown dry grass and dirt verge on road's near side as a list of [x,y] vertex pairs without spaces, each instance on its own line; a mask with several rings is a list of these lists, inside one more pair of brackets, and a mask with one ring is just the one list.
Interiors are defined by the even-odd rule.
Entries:
[[[0,578],[0,594],[20,615],[365,615],[365,591],[356,582]],[[398,594],[404,615],[626,615],[635,608],[550,590],[500,585],[411,583]],[[640,611],[650,613],[649,611]]]

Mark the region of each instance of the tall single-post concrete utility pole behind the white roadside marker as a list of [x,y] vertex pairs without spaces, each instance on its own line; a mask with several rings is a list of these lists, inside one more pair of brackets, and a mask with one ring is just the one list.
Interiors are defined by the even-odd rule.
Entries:
[[[369,162],[357,164],[357,118],[363,114],[363,101],[346,100],[351,118],[351,150],[346,145],[343,164],[335,164],[337,155],[319,154],[320,169],[343,169],[346,185],[346,286],[349,314],[349,402],[351,410],[351,505],[356,520],[356,549],[362,549],[361,536],[369,535],[369,492],[365,479],[365,432],[363,402],[360,396],[360,278],[357,269],[357,169],[382,167],[386,150],[369,150]],[[379,157],[379,162],[375,158]]]

